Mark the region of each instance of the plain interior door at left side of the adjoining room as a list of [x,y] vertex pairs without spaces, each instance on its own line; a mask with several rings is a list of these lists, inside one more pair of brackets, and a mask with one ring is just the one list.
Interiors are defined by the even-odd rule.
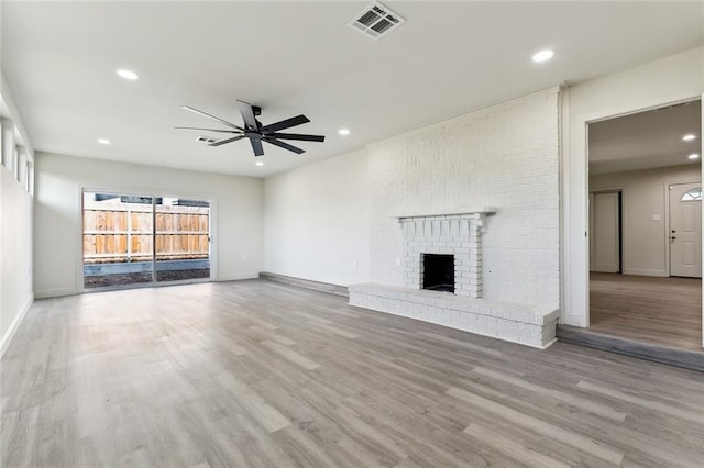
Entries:
[[620,271],[619,192],[590,194],[590,271]]

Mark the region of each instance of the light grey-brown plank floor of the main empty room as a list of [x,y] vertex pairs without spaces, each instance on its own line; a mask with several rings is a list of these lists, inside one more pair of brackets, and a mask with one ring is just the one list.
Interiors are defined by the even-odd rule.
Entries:
[[702,466],[704,374],[261,280],[36,301],[3,467]]

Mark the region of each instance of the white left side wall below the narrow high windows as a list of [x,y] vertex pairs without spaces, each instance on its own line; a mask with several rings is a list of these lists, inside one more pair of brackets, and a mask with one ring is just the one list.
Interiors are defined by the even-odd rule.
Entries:
[[32,197],[0,166],[0,356],[33,299]]

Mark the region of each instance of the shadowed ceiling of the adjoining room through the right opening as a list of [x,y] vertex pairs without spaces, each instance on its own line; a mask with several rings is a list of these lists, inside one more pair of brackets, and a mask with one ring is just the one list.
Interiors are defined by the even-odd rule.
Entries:
[[[700,100],[639,112],[590,125],[590,174],[698,164],[702,136]],[[683,141],[686,134],[695,135]]]

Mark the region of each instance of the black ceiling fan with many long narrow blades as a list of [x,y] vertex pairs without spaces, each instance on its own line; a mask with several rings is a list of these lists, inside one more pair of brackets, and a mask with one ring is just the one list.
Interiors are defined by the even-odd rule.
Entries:
[[248,102],[238,100],[238,108],[240,109],[240,113],[242,114],[242,120],[244,121],[244,126],[235,125],[231,122],[217,118],[215,115],[210,115],[204,111],[199,111],[198,109],[194,109],[189,105],[183,105],[182,109],[187,111],[197,113],[198,115],[206,116],[208,119],[215,120],[216,122],[220,122],[223,125],[229,126],[230,129],[200,129],[193,126],[177,126],[176,130],[188,130],[188,131],[198,131],[198,132],[218,132],[218,133],[231,133],[233,136],[228,136],[222,140],[211,140],[201,137],[199,140],[208,143],[208,146],[221,146],[227,143],[237,142],[242,138],[250,138],[250,143],[252,144],[252,149],[254,151],[254,156],[262,156],[264,154],[264,147],[262,146],[262,142],[266,142],[268,144],[282,147],[284,149],[288,149],[289,152],[294,152],[296,154],[305,153],[305,149],[301,149],[297,146],[290,145],[288,143],[282,142],[282,140],[299,140],[302,142],[324,142],[326,137],[322,135],[301,135],[299,133],[279,133],[279,130],[290,129],[292,126],[301,125],[304,123],[310,122],[306,115],[297,115],[290,119],[283,120],[280,122],[272,123],[268,125],[262,125],[262,122],[256,120],[256,116],[262,113],[262,108],[257,105],[252,105]]

